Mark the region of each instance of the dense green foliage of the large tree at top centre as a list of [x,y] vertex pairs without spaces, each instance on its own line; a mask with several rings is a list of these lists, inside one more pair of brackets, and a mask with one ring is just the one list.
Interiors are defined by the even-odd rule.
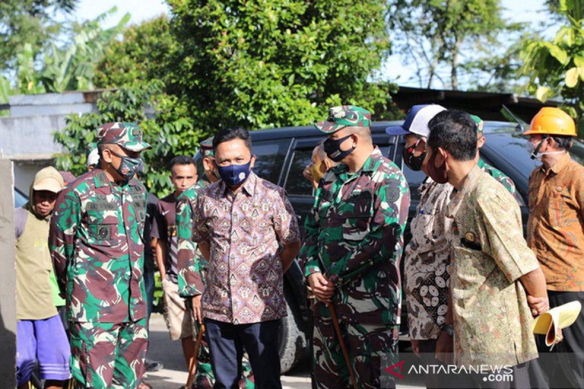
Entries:
[[384,1],[168,3],[166,85],[208,134],[310,124],[342,103],[386,113],[392,86],[374,77],[390,50]]

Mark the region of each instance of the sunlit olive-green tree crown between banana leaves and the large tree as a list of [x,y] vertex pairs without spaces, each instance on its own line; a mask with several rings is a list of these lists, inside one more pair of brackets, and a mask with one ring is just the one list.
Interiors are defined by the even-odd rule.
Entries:
[[123,40],[110,45],[100,60],[95,85],[117,87],[138,80],[163,79],[174,42],[166,15],[130,26]]

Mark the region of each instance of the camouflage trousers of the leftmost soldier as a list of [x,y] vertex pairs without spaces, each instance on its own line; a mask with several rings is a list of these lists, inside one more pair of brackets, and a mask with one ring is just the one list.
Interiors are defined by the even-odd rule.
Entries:
[[135,388],[144,374],[146,319],[71,323],[71,375],[78,388]]

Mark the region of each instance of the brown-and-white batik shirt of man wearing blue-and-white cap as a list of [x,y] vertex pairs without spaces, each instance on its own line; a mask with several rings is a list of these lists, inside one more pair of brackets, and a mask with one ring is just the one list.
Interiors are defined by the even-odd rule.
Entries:
[[412,339],[437,339],[448,311],[450,242],[446,232],[452,219],[446,205],[454,187],[428,177],[416,216],[412,219],[412,239],[405,248],[405,296],[408,304],[408,329]]

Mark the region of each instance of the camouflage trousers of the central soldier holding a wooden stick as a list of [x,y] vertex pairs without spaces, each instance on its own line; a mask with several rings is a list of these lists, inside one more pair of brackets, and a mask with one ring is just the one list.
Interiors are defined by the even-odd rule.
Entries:
[[[319,389],[353,388],[331,313],[325,304],[314,305],[313,369]],[[399,326],[339,322],[349,360],[361,389],[381,387],[381,369],[397,363]],[[381,366],[382,359],[387,366]],[[385,364],[386,362],[384,362]]]

